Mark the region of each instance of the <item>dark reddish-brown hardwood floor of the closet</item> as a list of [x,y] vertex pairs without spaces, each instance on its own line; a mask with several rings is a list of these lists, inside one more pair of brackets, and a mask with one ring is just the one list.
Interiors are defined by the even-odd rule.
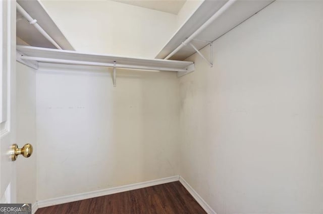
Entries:
[[206,213],[179,182],[39,208],[36,214]]

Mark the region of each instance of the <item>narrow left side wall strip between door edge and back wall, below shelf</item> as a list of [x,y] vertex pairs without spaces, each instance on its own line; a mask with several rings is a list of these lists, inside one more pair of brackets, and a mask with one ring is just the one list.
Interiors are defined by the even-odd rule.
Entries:
[[36,202],[36,72],[16,63],[17,78],[17,144],[30,143],[34,152],[28,158],[19,156],[17,166],[17,202]]

